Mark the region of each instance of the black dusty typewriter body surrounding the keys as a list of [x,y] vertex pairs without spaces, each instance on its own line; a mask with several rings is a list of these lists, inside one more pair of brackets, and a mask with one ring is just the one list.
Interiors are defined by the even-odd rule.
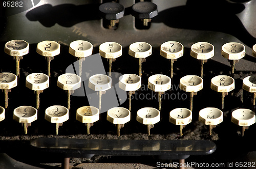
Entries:
[[[2,1],[3,4],[4,1]],[[35,1],[34,1],[35,2]],[[67,153],[70,158],[82,158],[82,162],[100,163],[143,163],[153,167],[160,160],[154,155],[139,153],[129,157],[122,154],[106,157],[108,154],[97,154],[100,159],[93,158],[90,154],[95,152],[77,153],[76,150],[41,150],[33,146],[36,138],[63,139],[96,139],[100,140],[175,140],[183,144],[187,140],[210,140],[216,147],[208,155],[191,155],[185,161],[198,163],[224,163],[225,167],[236,162],[246,164],[255,162],[256,146],[254,143],[255,125],[249,126],[244,136],[241,135],[242,127],[231,122],[231,113],[238,108],[248,108],[255,111],[252,105],[253,93],[243,90],[243,78],[255,75],[256,59],[252,56],[252,46],[256,42],[256,1],[151,1],[158,6],[158,15],[152,18],[148,26],[143,26],[141,20],[131,15],[131,7],[139,1],[119,0],[124,6],[124,17],[114,27],[109,27],[108,21],[98,15],[98,7],[107,1],[38,1],[33,7],[27,5],[25,10],[16,12],[13,9],[1,7],[0,44],[2,46],[0,70],[15,74],[15,60],[4,52],[5,43],[20,39],[29,43],[29,53],[20,60],[20,77],[17,87],[8,93],[9,107],[6,109],[5,120],[0,122],[0,152],[10,157],[33,166],[47,168],[41,163],[61,162]],[[25,4],[29,1],[24,1]],[[47,74],[47,61],[36,52],[37,43],[44,40],[56,41],[60,44],[60,54],[51,61],[50,86],[40,94],[40,107],[38,118],[28,127],[28,134],[24,134],[21,124],[13,120],[13,110],[22,105],[35,107],[35,93],[25,86],[26,76],[31,73]],[[100,114],[99,121],[94,123],[87,134],[86,126],[76,120],[76,110],[89,104],[86,96],[71,96],[69,120],[59,128],[55,134],[55,125],[45,120],[45,109],[52,105],[67,106],[67,93],[57,87],[57,78],[66,73],[67,68],[77,61],[69,53],[69,44],[75,40],[85,40],[93,44],[93,54],[99,52],[99,45],[104,42],[117,42],[122,45],[122,56],[112,64],[112,71],[120,74],[139,72],[139,60],[129,55],[129,45],[134,42],[146,42],[152,45],[152,55],[142,63],[142,85],[144,88],[136,91],[137,97],[132,100],[131,121],[116,134],[116,126],[106,121],[106,112]],[[146,88],[148,77],[154,74],[170,76],[170,61],[160,55],[160,45],[166,41],[177,41],[184,45],[184,55],[174,62],[174,77],[172,88],[166,91],[162,100],[161,119],[151,129],[147,136],[146,126],[136,121],[136,113],[143,107],[158,108],[157,93]],[[169,122],[169,112],[175,108],[189,109],[189,93],[179,89],[180,78],[185,75],[200,76],[201,62],[190,56],[190,47],[197,42],[209,42],[214,45],[214,57],[204,64],[203,89],[193,98],[192,122],[183,128],[183,136],[179,135],[179,126]],[[223,122],[212,129],[209,136],[208,126],[199,122],[199,111],[205,107],[221,109],[221,94],[210,89],[211,78],[217,75],[231,76],[231,66],[227,59],[221,55],[221,47],[228,42],[239,42],[245,46],[246,55],[235,66],[233,78],[235,89],[225,96]],[[108,60],[101,58],[105,72],[108,72]],[[87,62],[87,59],[83,62]],[[99,64],[100,65],[100,64]],[[97,67],[96,67],[97,68]],[[102,67],[101,67],[102,68]],[[81,83],[81,88],[88,86],[88,81]],[[86,95],[86,92],[84,92]],[[148,95],[147,95],[148,94]],[[134,95],[135,96],[135,95]],[[139,97],[141,96],[141,97]],[[148,96],[148,98],[143,97]],[[104,97],[104,96],[102,96]],[[118,97],[118,96],[117,96]],[[127,108],[128,99],[119,100],[119,106]],[[0,106],[4,107],[4,93],[0,93]],[[64,140],[65,139],[65,140]],[[66,140],[67,139],[67,140]],[[49,144],[52,141],[49,140]],[[106,143],[106,142],[105,142]],[[131,142],[135,143],[135,142]],[[153,143],[153,142],[152,142]],[[73,142],[71,142],[73,144]],[[82,144],[82,143],[80,143]],[[93,142],[90,144],[94,144]],[[125,143],[122,142],[125,147]],[[120,145],[122,145],[120,144]],[[128,143],[127,143],[128,144]],[[136,144],[139,144],[139,142]],[[154,143],[155,144],[155,143]],[[161,144],[161,143],[160,143]],[[131,146],[131,145],[130,145]],[[39,146],[40,147],[40,146]],[[43,146],[42,146],[43,147]],[[90,148],[90,147],[89,147]],[[44,149],[44,148],[42,148]],[[93,146],[92,146],[93,149]],[[122,149],[122,148],[121,148]],[[152,148],[153,149],[153,148]],[[124,150],[124,149],[122,149]],[[143,151],[141,151],[143,152]],[[56,154],[58,155],[56,155]],[[65,154],[61,156],[61,154]],[[43,155],[43,156],[41,156]],[[140,155],[140,156],[139,156]],[[183,154],[185,157],[185,154]],[[164,155],[163,155],[164,156]],[[162,158],[161,160],[166,158]],[[168,158],[167,158],[168,159]],[[170,159],[177,160],[178,157]],[[80,161],[80,162],[81,162]],[[3,162],[3,161],[2,161]],[[72,159],[71,159],[72,163]],[[240,163],[238,163],[240,164]],[[241,167],[238,166],[238,167]],[[1,166],[1,163],[0,163]],[[3,164],[4,166],[4,164]],[[245,166],[245,165],[244,165]],[[254,164],[254,167],[256,164]],[[200,168],[195,167],[194,168]],[[201,167],[202,168],[202,167]]]

